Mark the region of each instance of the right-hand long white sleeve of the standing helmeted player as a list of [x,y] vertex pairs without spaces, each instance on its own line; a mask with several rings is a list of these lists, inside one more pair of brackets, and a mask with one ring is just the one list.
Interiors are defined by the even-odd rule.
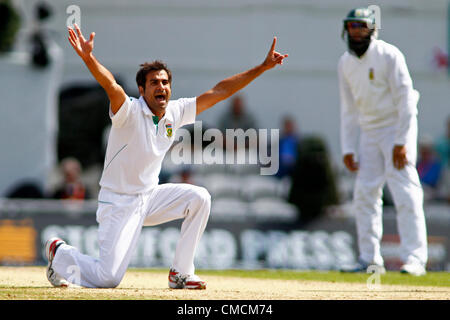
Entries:
[[413,88],[405,57],[400,50],[393,49],[389,64],[389,86],[399,115],[395,144],[405,145],[414,130],[414,122],[417,121],[417,102],[420,95]]

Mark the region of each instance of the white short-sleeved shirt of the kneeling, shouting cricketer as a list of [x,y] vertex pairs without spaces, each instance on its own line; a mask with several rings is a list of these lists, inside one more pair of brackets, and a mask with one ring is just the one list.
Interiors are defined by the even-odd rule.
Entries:
[[116,114],[106,149],[100,186],[117,193],[147,192],[159,182],[161,163],[174,142],[176,130],[195,122],[196,98],[170,100],[158,124],[141,96],[126,97]]

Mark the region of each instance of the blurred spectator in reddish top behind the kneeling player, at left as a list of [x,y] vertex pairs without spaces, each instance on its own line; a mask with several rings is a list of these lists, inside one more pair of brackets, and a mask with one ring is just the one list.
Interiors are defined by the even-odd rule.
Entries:
[[81,181],[81,164],[75,158],[66,158],[61,162],[61,172],[64,181],[59,185],[54,194],[54,199],[84,200],[90,194]]

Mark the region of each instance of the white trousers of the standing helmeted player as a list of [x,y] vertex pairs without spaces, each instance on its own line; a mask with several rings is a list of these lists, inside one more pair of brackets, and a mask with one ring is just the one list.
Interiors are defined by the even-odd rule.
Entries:
[[359,170],[354,189],[354,210],[359,258],[369,264],[383,265],[381,256],[382,192],[387,182],[397,211],[400,258],[404,263],[425,267],[428,257],[427,232],[423,211],[423,190],[416,170],[417,122],[407,138],[405,168],[393,165],[395,126],[361,130]]

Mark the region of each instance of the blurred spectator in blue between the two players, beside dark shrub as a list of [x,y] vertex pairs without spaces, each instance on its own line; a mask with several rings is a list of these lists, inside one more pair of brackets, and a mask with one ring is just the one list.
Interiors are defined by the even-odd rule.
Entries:
[[277,177],[283,178],[292,175],[298,156],[300,135],[297,132],[295,121],[286,116],[283,120],[283,129],[280,137],[280,167]]

